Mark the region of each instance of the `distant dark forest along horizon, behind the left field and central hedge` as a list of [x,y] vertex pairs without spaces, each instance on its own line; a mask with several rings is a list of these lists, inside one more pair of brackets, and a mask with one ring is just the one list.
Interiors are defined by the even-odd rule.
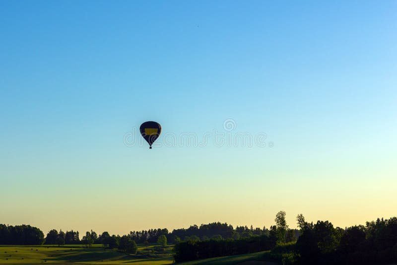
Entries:
[[[299,230],[294,230],[296,235],[299,235]],[[253,236],[269,235],[269,230],[265,227],[254,228],[247,226],[237,226],[233,228],[227,223],[214,222],[209,224],[201,224],[200,226],[192,225],[189,228],[174,229],[169,233],[167,228],[157,228],[142,231],[131,231],[128,235],[135,243],[156,243],[159,236],[165,235],[168,243],[179,243],[181,241],[205,241],[209,239],[239,239],[249,238]],[[109,238],[115,238],[116,242],[120,240],[121,236],[112,235],[108,232],[97,234],[95,231],[87,231],[80,239],[78,231],[62,231],[58,232],[52,229],[47,236],[36,227],[30,225],[16,225],[7,226],[0,224],[0,245],[65,245],[65,244],[85,244],[87,241],[91,244],[108,245]]]

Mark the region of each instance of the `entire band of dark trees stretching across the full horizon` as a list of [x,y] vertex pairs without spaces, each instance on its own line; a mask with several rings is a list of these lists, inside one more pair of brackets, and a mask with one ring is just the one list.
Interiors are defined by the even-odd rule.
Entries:
[[288,264],[391,264],[397,262],[397,217],[366,222],[364,225],[334,227],[329,221],[306,222],[296,217],[299,229],[290,229],[286,213],[276,214],[269,229],[233,226],[214,222],[189,228],[131,231],[128,235],[98,235],[87,231],[80,239],[78,231],[55,229],[44,236],[30,225],[0,224],[1,245],[103,244],[105,248],[136,253],[136,244],[175,244],[175,262],[221,257],[268,250],[264,260]]

